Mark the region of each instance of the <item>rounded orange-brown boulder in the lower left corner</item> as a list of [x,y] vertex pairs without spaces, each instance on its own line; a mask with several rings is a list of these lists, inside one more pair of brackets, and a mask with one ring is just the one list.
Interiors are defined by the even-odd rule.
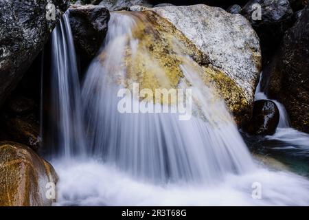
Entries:
[[0,206],[51,206],[57,179],[54,168],[32,149],[0,142]]

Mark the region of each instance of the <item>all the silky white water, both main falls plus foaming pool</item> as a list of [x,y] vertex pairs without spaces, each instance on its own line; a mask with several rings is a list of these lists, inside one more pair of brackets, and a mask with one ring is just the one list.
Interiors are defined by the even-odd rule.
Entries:
[[[63,139],[57,141],[69,158],[58,155],[52,160],[60,177],[55,205],[308,205],[308,179],[255,162],[225,103],[214,87],[201,83],[201,73],[183,54],[179,87],[192,89],[190,120],[179,120],[177,113],[119,113],[117,91],[126,87],[124,51],[130,47],[134,58],[139,42],[131,30],[137,19],[130,13],[111,13],[104,59],[93,60],[82,89],[77,70],[60,71],[69,64],[58,63],[54,74],[62,80],[52,89],[63,87],[64,92],[58,92],[59,102],[54,103],[62,115],[57,120]],[[65,25],[69,29],[69,23]],[[63,30],[54,30],[53,41],[66,38],[73,44],[71,36],[59,32]],[[65,54],[55,57],[67,61]],[[76,101],[66,100],[70,91]],[[139,104],[137,98],[127,99]],[[71,118],[70,111],[79,117]],[[80,155],[84,158],[76,159]],[[252,197],[254,183],[262,186],[260,199]]]

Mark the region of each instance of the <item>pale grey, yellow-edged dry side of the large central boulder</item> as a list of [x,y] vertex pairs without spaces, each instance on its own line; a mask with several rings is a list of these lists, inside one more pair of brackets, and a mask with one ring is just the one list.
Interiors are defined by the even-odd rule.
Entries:
[[[258,36],[247,19],[207,5],[152,9],[133,6],[130,10],[142,10],[146,14],[155,12],[154,17],[168,21],[172,27],[170,29],[176,29],[168,32],[174,36],[179,32],[179,38],[187,39],[194,45],[184,53],[204,67],[206,74],[216,82],[236,122],[241,125],[251,118],[261,54]],[[167,25],[162,26],[169,29]],[[164,50],[159,54],[164,54]]]

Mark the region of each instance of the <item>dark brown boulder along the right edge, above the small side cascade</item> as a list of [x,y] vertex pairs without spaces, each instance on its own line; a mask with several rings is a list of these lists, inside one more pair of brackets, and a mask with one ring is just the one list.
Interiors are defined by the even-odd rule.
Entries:
[[266,93],[284,104],[292,126],[309,133],[309,5],[280,48],[264,71]]

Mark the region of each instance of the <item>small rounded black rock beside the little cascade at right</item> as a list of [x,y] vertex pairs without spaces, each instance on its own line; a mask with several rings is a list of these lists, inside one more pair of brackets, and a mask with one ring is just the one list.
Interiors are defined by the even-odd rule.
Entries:
[[279,109],[271,100],[254,102],[252,118],[245,130],[253,135],[273,135],[279,123]]

